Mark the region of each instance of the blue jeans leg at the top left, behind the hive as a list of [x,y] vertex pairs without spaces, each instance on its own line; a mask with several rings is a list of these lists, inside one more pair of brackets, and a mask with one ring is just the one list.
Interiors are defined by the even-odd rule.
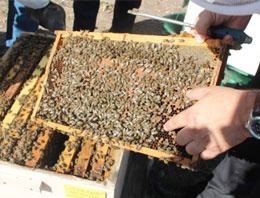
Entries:
[[37,29],[38,24],[26,15],[24,5],[16,0],[9,0],[6,46],[10,47],[22,32],[35,32]]

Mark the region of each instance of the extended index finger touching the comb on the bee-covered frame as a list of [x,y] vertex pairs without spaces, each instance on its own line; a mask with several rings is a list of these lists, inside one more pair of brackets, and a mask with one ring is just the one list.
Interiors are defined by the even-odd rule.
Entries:
[[179,129],[187,125],[186,114],[189,109],[182,111],[178,115],[173,116],[164,124],[165,131],[172,131],[174,129]]

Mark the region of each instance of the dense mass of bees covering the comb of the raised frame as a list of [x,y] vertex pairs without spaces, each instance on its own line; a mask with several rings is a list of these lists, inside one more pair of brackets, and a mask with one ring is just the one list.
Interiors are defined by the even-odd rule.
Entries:
[[176,132],[165,132],[163,124],[192,105],[186,91],[210,85],[214,73],[207,58],[185,50],[171,43],[68,37],[53,58],[36,117],[114,145],[182,155]]

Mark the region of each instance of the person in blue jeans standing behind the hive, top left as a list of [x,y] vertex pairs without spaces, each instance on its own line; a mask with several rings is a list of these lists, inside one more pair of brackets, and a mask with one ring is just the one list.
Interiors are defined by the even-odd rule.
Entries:
[[64,9],[49,0],[9,0],[6,47],[12,46],[22,32],[35,32],[38,25],[50,31],[65,29]]

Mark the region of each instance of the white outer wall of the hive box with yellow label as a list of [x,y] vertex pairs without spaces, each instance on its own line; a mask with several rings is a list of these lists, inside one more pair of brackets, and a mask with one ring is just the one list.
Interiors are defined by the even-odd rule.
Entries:
[[117,150],[107,183],[0,162],[1,197],[120,197],[129,151]]

